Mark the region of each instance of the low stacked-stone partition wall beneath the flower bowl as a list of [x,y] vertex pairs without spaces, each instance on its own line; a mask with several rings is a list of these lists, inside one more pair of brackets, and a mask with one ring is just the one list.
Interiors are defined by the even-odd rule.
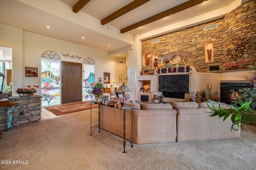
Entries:
[[[22,125],[41,120],[41,96],[8,97],[9,101],[17,103],[18,111],[12,114],[12,126]],[[10,107],[0,107],[0,129],[6,128],[6,111]]]

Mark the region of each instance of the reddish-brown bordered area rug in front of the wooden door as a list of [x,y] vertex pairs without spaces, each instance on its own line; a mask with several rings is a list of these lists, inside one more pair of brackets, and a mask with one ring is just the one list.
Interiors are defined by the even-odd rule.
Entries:
[[[98,108],[98,105],[92,104],[92,109]],[[81,102],[81,103],[74,103],[68,105],[61,105],[61,106],[53,106],[53,107],[46,107],[48,111],[52,112],[54,115],[64,115],[67,113],[74,113],[79,111],[85,111],[91,109],[90,102]]]

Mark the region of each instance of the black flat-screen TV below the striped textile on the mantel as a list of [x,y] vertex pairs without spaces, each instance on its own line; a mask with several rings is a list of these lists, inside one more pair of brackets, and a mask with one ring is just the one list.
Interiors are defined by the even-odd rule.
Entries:
[[189,74],[159,75],[158,77],[158,91],[173,93],[189,93]]

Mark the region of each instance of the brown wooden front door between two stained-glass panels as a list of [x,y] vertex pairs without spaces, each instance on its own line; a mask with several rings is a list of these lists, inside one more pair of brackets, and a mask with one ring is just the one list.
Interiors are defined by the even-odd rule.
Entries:
[[62,104],[82,102],[82,64],[61,62]]

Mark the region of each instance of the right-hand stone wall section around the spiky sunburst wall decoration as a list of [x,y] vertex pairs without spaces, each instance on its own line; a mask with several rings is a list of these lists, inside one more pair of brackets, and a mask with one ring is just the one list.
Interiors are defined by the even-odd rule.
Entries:
[[[230,38],[238,36],[252,37],[248,44],[248,51],[243,58],[236,62],[246,60],[246,65],[252,66],[256,62],[256,0],[238,6],[234,11],[226,14],[223,18],[223,43]],[[226,47],[223,48],[223,55],[226,54]],[[224,57],[223,63],[234,62],[229,57]]]

